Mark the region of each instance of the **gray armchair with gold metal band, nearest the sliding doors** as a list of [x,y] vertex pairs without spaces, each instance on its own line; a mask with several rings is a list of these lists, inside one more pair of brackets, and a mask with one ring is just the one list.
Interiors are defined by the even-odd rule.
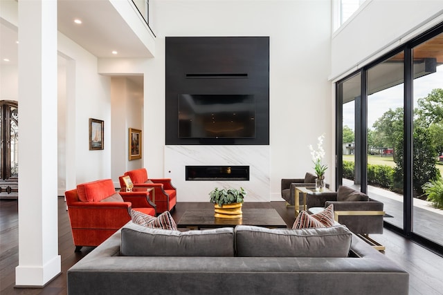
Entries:
[[336,192],[307,195],[307,211],[317,213],[334,204],[334,218],[354,234],[383,234],[383,203],[341,186]]

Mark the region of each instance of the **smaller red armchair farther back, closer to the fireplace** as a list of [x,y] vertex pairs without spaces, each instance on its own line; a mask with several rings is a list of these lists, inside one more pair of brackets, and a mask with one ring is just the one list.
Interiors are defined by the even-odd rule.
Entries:
[[[170,178],[148,178],[145,168],[127,171],[125,175],[129,175],[134,184],[134,188],[154,187],[152,196],[155,196],[155,200],[153,201],[157,205],[157,213],[171,211],[175,207],[177,203],[177,189],[172,185]],[[123,181],[123,176],[120,176],[118,180],[120,181],[121,188],[124,190],[126,186]]]

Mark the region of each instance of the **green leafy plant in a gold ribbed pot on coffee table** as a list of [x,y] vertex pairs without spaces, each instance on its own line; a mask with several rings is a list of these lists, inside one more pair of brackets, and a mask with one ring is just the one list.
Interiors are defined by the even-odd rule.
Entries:
[[240,189],[219,189],[216,187],[209,193],[210,202],[214,203],[215,217],[241,218],[242,205],[246,191]]

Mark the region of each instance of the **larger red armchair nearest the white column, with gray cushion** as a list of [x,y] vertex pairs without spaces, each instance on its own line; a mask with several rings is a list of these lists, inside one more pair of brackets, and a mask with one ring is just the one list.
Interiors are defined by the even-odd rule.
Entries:
[[156,216],[147,191],[116,193],[110,179],[78,184],[64,195],[76,252],[109,238],[131,220],[131,209]]

